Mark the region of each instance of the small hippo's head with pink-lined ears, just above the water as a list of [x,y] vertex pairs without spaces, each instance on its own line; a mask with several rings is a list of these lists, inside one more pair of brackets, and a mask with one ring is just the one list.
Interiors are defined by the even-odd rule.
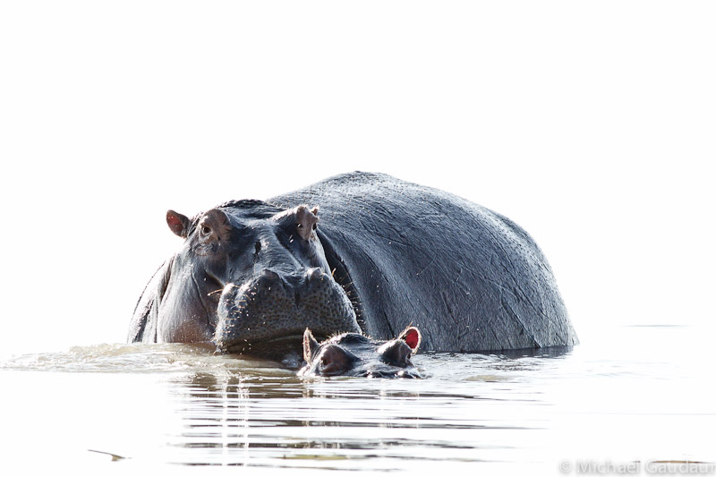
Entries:
[[418,328],[406,328],[390,341],[375,341],[358,333],[333,336],[323,343],[306,328],[299,376],[362,376],[365,378],[422,378],[410,357],[418,351]]

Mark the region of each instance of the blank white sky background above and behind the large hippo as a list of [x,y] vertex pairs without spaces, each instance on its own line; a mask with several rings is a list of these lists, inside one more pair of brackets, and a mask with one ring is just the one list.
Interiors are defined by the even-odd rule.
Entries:
[[[712,2],[3,2],[0,354],[124,341],[193,215],[351,170],[513,218],[583,342],[711,328]],[[636,344],[638,345],[638,344]]]

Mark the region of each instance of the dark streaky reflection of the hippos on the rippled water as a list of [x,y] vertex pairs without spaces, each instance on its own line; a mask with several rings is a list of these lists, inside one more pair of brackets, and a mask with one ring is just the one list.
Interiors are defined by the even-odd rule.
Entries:
[[507,376],[536,371],[564,351],[425,355],[418,365],[433,378],[417,381],[235,370],[178,376],[167,385],[183,431],[170,445],[183,449],[175,462],[184,464],[388,470],[499,460],[520,440],[500,435],[543,429],[539,419],[513,419],[511,405],[539,399],[516,396],[514,383],[503,396]]

